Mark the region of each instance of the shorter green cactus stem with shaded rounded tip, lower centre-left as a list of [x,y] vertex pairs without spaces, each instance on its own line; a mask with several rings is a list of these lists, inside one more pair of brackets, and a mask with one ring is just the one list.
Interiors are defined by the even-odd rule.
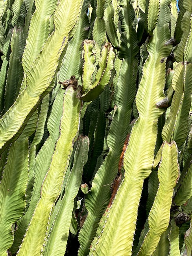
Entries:
[[65,185],[65,194],[61,200],[60,207],[54,219],[48,240],[45,246],[44,255],[64,255],[68,233],[74,208],[74,198],[76,197],[83,173],[83,166],[87,162],[89,149],[89,138],[80,136],[74,155],[74,164]]

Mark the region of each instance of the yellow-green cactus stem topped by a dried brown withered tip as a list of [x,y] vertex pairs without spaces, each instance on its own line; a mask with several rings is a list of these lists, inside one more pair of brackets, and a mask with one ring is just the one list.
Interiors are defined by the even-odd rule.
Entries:
[[72,86],[69,86],[63,98],[60,136],[55,146],[50,168],[42,184],[41,198],[17,255],[36,255],[41,254],[43,250],[49,218],[61,192],[74,139],[78,133],[81,109],[81,100],[77,97],[79,89],[81,90],[81,88],[74,90]]

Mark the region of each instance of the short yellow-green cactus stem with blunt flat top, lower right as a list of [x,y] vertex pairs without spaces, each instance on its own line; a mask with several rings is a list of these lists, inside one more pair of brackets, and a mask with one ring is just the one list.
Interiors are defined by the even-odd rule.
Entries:
[[174,187],[179,178],[178,167],[176,143],[174,141],[170,144],[165,142],[158,169],[159,187],[148,217],[149,231],[144,238],[138,256],[153,254],[162,233],[168,228]]

